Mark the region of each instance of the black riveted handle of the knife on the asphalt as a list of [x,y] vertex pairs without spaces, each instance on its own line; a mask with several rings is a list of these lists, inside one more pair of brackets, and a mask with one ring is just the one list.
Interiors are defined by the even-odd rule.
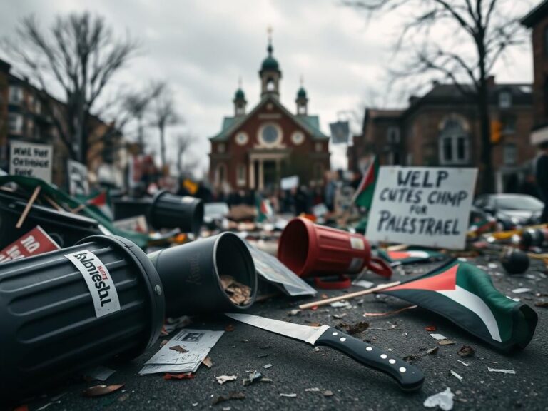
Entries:
[[419,368],[395,357],[391,352],[380,350],[333,327],[325,330],[314,345],[334,348],[363,365],[385,372],[394,378],[404,391],[419,390],[425,380],[425,375]]

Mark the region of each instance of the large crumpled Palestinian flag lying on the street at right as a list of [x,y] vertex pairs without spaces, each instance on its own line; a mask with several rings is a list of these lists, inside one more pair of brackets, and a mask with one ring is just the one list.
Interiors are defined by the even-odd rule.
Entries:
[[381,292],[442,315],[499,350],[526,347],[537,327],[529,305],[502,295],[487,273],[459,260]]

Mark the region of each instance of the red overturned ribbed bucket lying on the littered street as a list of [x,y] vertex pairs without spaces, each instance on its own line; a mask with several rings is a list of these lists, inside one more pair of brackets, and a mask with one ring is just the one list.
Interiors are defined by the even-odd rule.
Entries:
[[371,258],[371,248],[361,234],[316,225],[305,218],[293,218],[278,243],[278,260],[299,277],[372,272],[390,277],[392,268],[380,258]]

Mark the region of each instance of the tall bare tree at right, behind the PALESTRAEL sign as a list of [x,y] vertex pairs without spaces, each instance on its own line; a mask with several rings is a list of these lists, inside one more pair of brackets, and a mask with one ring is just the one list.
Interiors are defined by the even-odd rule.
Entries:
[[[437,74],[477,104],[480,115],[482,190],[492,191],[494,175],[489,128],[488,78],[511,46],[528,40],[514,0],[356,0],[348,6],[369,16],[405,9],[395,51],[407,64],[392,70],[395,79]],[[462,81],[467,84],[463,84]]]

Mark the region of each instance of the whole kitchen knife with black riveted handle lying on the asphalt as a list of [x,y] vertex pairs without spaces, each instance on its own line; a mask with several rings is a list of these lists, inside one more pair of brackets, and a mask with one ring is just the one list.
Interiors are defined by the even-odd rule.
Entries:
[[284,335],[294,340],[300,340],[313,346],[331,347],[362,365],[367,365],[367,367],[372,367],[390,375],[404,391],[419,390],[425,380],[425,376],[418,367],[392,355],[392,352],[381,350],[329,325],[311,327],[310,325],[287,323],[258,315],[236,313],[225,313],[225,315],[241,323],[253,325],[253,327],[262,328],[270,333]]

